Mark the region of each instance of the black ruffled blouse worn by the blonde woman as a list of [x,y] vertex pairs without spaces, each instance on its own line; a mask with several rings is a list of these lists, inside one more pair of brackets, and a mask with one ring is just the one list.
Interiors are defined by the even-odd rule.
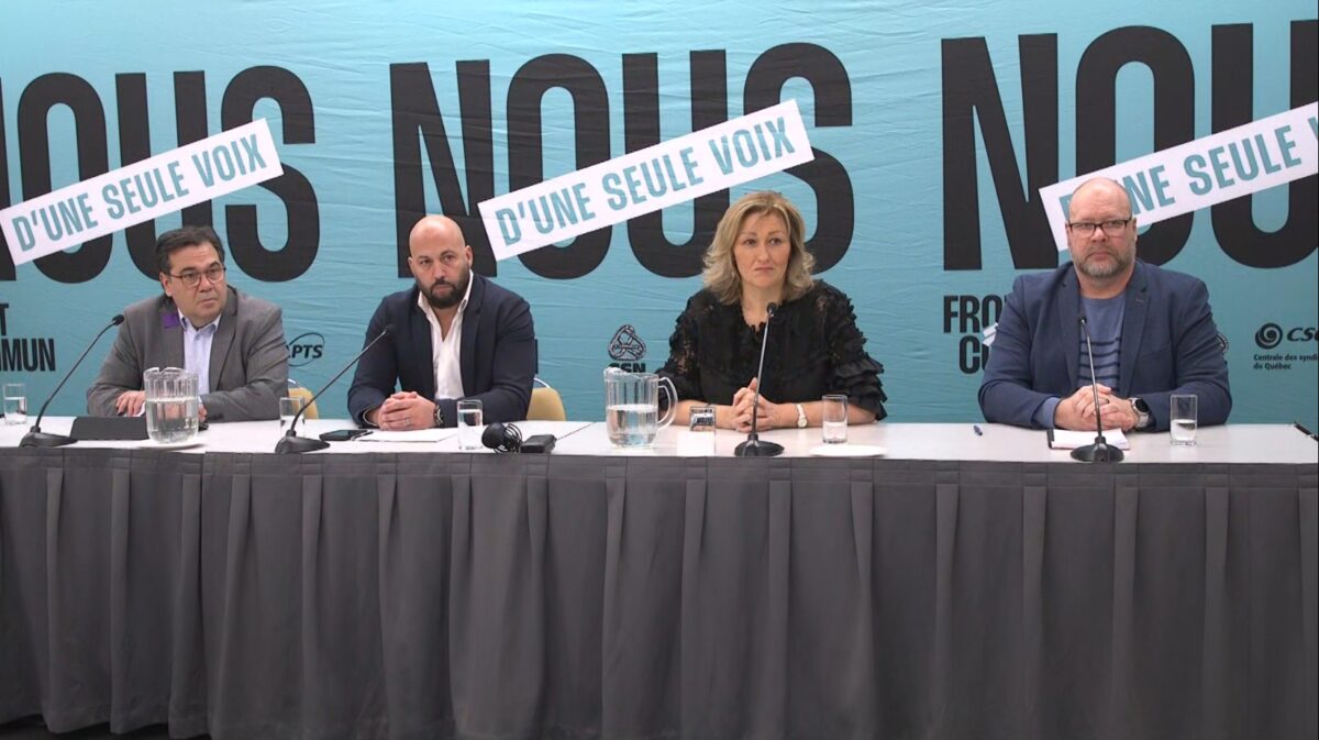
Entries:
[[[669,361],[660,375],[673,380],[682,400],[732,404],[733,393],[756,376],[764,324],[749,327],[740,303],[727,306],[708,290],[696,293],[669,339]],[[884,418],[884,365],[865,354],[852,302],[839,289],[815,286],[774,314],[760,389],[776,404],[819,401],[845,393],[848,402]]]

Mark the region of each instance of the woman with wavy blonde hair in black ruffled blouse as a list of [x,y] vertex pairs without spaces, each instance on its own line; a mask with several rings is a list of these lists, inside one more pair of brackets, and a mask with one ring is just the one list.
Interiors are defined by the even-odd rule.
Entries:
[[[660,375],[678,389],[678,423],[692,406],[715,405],[715,423],[749,431],[760,388],[758,430],[819,426],[820,397],[848,397],[848,422],[886,416],[880,373],[865,354],[852,302],[811,277],[806,224],[778,193],[743,197],[719,220],[706,251],[704,288],[687,301]],[[764,377],[756,377],[770,303]]]

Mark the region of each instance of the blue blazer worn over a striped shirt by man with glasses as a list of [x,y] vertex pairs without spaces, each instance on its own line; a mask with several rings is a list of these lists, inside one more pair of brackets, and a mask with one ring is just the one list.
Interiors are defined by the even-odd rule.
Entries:
[[[1228,364],[1204,282],[1137,260],[1125,306],[1117,396],[1144,398],[1155,431],[1169,427],[1171,393],[1199,396],[1202,426],[1228,421]],[[1076,392],[1079,313],[1080,285],[1071,262],[1017,278],[980,384],[985,421],[1037,426],[1041,404]]]

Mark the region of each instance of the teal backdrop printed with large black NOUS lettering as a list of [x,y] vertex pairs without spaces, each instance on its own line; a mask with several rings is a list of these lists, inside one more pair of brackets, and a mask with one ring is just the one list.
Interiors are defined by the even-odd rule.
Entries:
[[[291,376],[319,386],[410,285],[417,214],[443,211],[479,270],[532,303],[539,375],[570,416],[600,419],[601,369],[663,364],[714,220],[768,187],[802,207],[822,277],[852,297],[892,421],[969,422],[984,324],[1014,276],[1066,259],[1038,187],[1315,100],[1315,16],[1312,0],[8,3],[0,207],[253,117],[286,174],[17,268],[0,249],[0,376],[36,406],[111,315],[160,290],[138,262],[187,218],[226,239],[232,285],[284,306]],[[499,264],[466,218],[790,98],[815,162],[731,195]],[[1319,416],[1316,202],[1311,175],[1142,233],[1145,259],[1210,286],[1232,421]],[[642,356],[611,356],[620,330]],[[83,412],[108,348],[51,413]],[[347,414],[346,390],[323,416]]]

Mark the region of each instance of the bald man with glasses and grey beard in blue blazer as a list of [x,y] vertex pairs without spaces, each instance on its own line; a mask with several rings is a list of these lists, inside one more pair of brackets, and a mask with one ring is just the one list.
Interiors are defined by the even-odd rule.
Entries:
[[[1199,423],[1228,419],[1232,392],[1204,282],[1136,259],[1126,190],[1093,178],[1072,193],[1071,264],[1018,277],[980,385],[985,419],[1034,429],[1165,431],[1169,396],[1199,397]],[[1086,317],[1095,352],[1091,377]]]

